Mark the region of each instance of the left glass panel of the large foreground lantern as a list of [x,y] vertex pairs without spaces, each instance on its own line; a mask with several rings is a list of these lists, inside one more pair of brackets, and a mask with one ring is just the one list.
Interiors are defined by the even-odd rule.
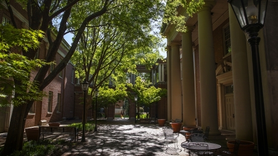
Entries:
[[[245,1],[245,0],[244,0]],[[247,25],[245,16],[244,16],[244,8],[242,6],[241,0],[232,0],[231,2],[232,8],[234,10],[234,13],[236,15],[236,18],[240,24],[240,27],[243,28]]]

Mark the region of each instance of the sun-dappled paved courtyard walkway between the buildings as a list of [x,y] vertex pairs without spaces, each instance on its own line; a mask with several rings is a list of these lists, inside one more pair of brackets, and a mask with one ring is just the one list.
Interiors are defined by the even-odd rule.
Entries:
[[[135,124],[134,120],[119,118],[108,120],[107,124],[98,126],[97,132],[88,132],[85,136],[85,143],[68,150],[63,156],[188,156],[180,146],[185,142],[182,134],[178,136],[179,150],[174,149],[173,142],[168,142],[166,152],[163,130],[157,124]],[[226,144],[226,140],[221,142]]]

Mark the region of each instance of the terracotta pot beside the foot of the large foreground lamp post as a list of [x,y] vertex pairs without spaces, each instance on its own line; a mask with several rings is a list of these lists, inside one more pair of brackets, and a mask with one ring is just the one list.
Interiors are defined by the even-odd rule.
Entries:
[[[234,149],[233,149],[234,143],[235,143],[235,141],[227,142],[227,147],[229,148],[230,152],[234,151]],[[239,144],[237,156],[253,156],[254,146],[255,146],[255,144],[253,142],[241,140],[240,144]]]

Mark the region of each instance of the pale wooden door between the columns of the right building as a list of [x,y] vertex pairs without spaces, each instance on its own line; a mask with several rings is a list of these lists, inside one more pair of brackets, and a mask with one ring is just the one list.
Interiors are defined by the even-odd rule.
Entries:
[[227,130],[235,131],[234,96],[225,95]]

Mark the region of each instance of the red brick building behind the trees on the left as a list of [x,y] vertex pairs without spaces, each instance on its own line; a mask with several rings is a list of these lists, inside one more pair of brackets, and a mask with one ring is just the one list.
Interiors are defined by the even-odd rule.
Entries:
[[[1,3],[6,8],[5,3]],[[10,1],[12,8],[14,8],[14,17],[17,26],[20,28],[28,29],[28,17],[27,12],[19,3]],[[0,9],[1,24],[10,23],[10,16],[7,9]],[[55,38],[55,33],[51,32],[51,37]],[[67,52],[70,45],[63,40],[60,48],[56,54],[56,64],[60,63]],[[49,49],[49,43],[47,37],[44,37],[39,50],[37,51],[36,58],[45,59],[47,51]],[[15,49],[12,49],[15,51]],[[55,68],[52,65],[48,73]],[[31,72],[31,79],[34,78],[38,69]],[[73,117],[74,109],[74,66],[69,62],[67,66],[56,76],[56,78],[43,90],[47,95],[43,97],[42,101],[34,102],[26,118],[25,127],[32,127],[37,125],[45,125],[49,122],[61,121],[63,117]],[[8,97],[10,98],[10,97]],[[9,120],[13,105],[11,107],[0,108],[0,132],[7,132],[9,127]]]

